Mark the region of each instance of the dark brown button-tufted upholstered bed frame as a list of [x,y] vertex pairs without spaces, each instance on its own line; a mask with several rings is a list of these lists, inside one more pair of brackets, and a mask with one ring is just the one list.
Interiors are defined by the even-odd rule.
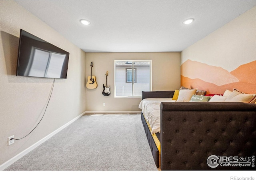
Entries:
[[[168,98],[173,94],[174,91],[142,92],[142,99]],[[141,119],[156,166],[161,170],[256,170],[252,163],[212,168],[206,162],[211,155],[250,159],[256,155],[256,104],[162,102],[160,112],[160,157],[143,114]]]

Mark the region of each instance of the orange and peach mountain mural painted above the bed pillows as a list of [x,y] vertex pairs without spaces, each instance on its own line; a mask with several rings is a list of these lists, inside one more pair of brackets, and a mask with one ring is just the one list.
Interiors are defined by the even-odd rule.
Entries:
[[223,94],[234,88],[249,94],[256,93],[256,61],[243,64],[228,72],[208,64],[186,60],[181,65],[181,85],[206,90],[207,94]]

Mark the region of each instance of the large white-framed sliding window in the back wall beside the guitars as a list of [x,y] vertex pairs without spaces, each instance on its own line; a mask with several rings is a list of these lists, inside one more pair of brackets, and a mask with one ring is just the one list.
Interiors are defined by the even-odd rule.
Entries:
[[115,97],[141,97],[142,91],[151,91],[151,60],[115,60]]

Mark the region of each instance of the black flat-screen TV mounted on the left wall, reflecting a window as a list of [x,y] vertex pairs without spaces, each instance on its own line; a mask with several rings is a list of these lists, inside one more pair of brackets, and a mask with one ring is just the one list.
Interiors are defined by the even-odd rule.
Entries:
[[67,78],[69,52],[20,30],[16,76]]

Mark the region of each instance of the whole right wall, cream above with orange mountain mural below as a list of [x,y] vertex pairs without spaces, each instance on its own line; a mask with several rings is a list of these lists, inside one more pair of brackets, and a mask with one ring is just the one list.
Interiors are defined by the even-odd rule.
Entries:
[[181,85],[256,93],[256,6],[181,53]]

